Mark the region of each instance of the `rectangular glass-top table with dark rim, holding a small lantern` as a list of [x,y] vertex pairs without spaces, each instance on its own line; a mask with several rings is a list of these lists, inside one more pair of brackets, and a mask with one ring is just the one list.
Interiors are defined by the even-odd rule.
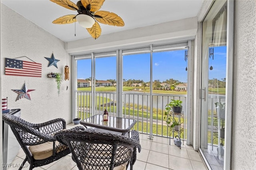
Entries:
[[84,125],[85,127],[95,127],[99,129],[120,132],[122,135],[125,135],[126,133],[130,132],[136,122],[137,121],[134,119],[114,116],[108,116],[108,121],[103,121],[103,115],[94,115],[80,121],[80,124]]

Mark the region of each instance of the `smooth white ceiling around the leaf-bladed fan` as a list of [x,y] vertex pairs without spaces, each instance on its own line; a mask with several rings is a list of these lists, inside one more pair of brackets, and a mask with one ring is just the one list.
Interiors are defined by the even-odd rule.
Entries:
[[[76,4],[78,0],[71,1]],[[91,38],[87,30],[78,23],[52,24],[52,21],[60,16],[78,13],[50,0],[1,2],[64,42]],[[203,0],[105,0],[100,10],[118,14],[124,20],[124,27],[99,23],[101,35],[194,17],[197,16],[202,2]]]

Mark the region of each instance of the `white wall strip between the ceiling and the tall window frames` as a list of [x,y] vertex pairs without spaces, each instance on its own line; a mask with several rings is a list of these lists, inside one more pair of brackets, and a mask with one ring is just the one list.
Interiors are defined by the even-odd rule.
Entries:
[[68,53],[80,54],[95,51],[118,49],[123,46],[138,47],[142,44],[158,42],[187,41],[195,38],[197,17],[135,28],[122,32],[101,35],[100,39],[86,38],[68,43]]

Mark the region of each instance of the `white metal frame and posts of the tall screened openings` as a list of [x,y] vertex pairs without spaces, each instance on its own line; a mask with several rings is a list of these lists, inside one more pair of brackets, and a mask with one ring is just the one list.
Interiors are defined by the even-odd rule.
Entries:
[[[131,54],[141,54],[141,53],[150,53],[150,124],[152,124],[153,119],[152,119],[152,94],[153,94],[153,90],[152,90],[152,54],[154,52],[164,52],[164,51],[174,51],[174,50],[187,50],[188,51],[188,63],[187,63],[187,67],[188,67],[188,74],[187,74],[187,84],[188,84],[188,89],[190,84],[191,84],[191,76],[192,76],[192,71],[190,69],[192,68],[192,64],[191,64],[191,60],[193,58],[192,56],[192,52],[191,52],[191,46],[193,45],[194,40],[187,40],[187,41],[183,41],[183,42],[176,42],[176,43],[157,43],[157,44],[148,44],[148,45],[137,45],[137,47],[128,47],[128,46],[124,46],[123,48],[118,48],[116,50],[110,50],[110,51],[92,51],[91,53],[85,53],[85,54],[79,54],[79,55],[72,55],[73,61],[73,88],[72,88],[72,115],[73,117],[76,117],[76,89],[77,89],[77,61],[79,59],[91,59],[91,77],[92,77],[92,89],[91,89],[91,93],[92,96],[90,97],[91,100],[91,107],[90,107],[90,111],[92,113],[92,115],[95,115],[95,103],[93,102],[94,96],[95,96],[95,59],[96,58],[100,58],[100,57],[109,57],[109,56],[116,56],[116,111],[117,114],[116,116],[118,117],[122,117],[123,113],[122,113],[122,85],[123,85],[123,75],[122,75],[122,70],[123,70],[123,65],[122,65],[122,61],[123,61],[123,56],[124,55],[131,55]],[[190,100],[190,95],[191,92],[190,90],[188,90],[187,93],[187,99],[186,99],[186,106],[190,107],[191,106],[191,100]],[[190,111],[190,109],[184,108],[185,112],[188,113],[187,111]],[[186,114],[186,125],[187,125],[187,132],[190,132],[190,124],[191,124],[191,117],[190,117],[190,113]],[[186,138],[187,138],[187,143],[190,144],[190,134],[186,133]],[[150,133],[149,133],[149,138],[151,139],[152,136],[152,126],[150,126]]]

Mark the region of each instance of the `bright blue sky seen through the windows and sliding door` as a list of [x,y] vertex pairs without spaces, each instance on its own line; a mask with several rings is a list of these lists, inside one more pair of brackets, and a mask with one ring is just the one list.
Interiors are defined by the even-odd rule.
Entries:
[[[153,53],[153,81],[175,79],[187,82],[184,50]],[[209,79],[223,79],[226,76],[226,47],[214,47],[214,60],[209,59]],[[96,58],[96,79],[116,79],[116,57]],[[189,69],[189,68],[188,68]],[[91,77],[91,59],[78,60],[78,79]],[[150,53],[124,55],[123,79],[150,81]]]

